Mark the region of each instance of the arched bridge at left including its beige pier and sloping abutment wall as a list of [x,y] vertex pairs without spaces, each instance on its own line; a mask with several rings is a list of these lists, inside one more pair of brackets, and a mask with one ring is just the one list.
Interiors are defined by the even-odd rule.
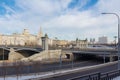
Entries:
[[41,48],[26,48],[26,47],[0,47],[0,60],[48,60],[60,59],[60,56],[65,58],[65,54],[61,50],[42,50]]

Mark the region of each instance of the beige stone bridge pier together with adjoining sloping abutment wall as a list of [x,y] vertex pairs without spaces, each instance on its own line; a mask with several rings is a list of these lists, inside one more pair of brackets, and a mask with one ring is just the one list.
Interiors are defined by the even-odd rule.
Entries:
[[66,55],[61,50],[45,50],[40,53],[34,54],[28,57],[29,53],[19,53],[15,52],[14,49],[10,49],[8,60],[16,61],[16,60],[24,60],[24,61],[37,61],[37,60],[48,60],[48,59],[60,59],[65,58]]

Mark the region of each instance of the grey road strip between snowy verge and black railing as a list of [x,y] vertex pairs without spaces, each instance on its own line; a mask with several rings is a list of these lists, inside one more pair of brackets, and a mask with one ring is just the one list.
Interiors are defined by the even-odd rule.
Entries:
[[78,77],[78,76],[82,76],[82,75],[86,75],[86,74],[90,74],[90,73],[95,73],[95,72],[105,73],[105,72],[109,72],[112,70],[117,70],[117,63],[112,64],[112,65],[94,68],[94,69],[87,69],[85,71],[78,71],[75,73],[68,73],[68,74],[61,75],[61,76],[54,76],[51,78],[37,79],[37,80],[67,80],[67,79],[70,79],[73,77]]

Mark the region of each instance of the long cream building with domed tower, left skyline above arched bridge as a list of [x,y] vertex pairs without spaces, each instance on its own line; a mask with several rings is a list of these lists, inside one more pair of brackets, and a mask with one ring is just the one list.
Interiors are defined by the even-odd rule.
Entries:
[[34,46],[42,44],[42,30],[37,35],[29,33],[28,29],[24,29],[22,33],[13,33],[12,35],[0,35],[0,45],[19,45],[19,46]]

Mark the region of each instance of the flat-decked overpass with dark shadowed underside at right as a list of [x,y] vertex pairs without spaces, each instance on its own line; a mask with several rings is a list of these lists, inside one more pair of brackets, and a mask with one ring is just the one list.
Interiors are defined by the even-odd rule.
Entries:
[[[70,49],[64,50],[66,52],[67,57],[71,57],[71,59],[100,59],[105,61],[114,61],[118,59],[117,50],[116,49]],[[67,53],[71,53],[69,55]]]

